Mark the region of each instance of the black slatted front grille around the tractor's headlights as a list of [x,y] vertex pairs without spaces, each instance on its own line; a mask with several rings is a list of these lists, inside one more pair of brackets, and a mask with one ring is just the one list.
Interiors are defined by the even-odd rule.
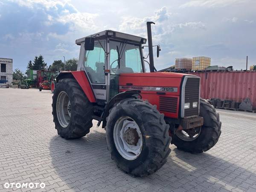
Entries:
[[185,86],[185,103],[190,103],[190,108],[184,110],[184,117],[198,116],[199,103],[196,108],[193,108],[193,102],[199,102],[199,78],[188,78]]

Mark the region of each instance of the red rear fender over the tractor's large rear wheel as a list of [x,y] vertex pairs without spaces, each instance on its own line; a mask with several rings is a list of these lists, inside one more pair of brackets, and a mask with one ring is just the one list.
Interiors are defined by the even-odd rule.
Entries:
[[74,78],[84,91],[84,94],[87,96],[89,101],[91,103],[95,103],[96,99],[93,94],[92,87],[90,85],[90,82],[87,79],[87,76],[85,75],[84,71],[63,71],[60,74],[58,74],[56,78],[56,82],[58,82],[61,79],[66,79],[66,78]]

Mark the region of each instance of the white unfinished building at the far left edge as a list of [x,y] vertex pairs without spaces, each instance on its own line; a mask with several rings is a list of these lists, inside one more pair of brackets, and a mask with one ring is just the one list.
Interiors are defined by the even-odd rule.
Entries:
[[0,58],[0,83],[12,83],[12,59]]

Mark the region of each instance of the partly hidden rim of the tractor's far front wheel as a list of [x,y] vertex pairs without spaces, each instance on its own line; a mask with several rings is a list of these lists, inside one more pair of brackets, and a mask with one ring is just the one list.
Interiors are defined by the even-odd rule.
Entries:
[[184,141],[193,141],[199,137],[201,133],[201,127],[179,130],[176,132],[177,137]]

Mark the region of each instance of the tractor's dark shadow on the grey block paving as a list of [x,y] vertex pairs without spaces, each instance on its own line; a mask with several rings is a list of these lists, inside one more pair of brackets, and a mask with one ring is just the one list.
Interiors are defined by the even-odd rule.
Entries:
[[65,140],[60,136],[50,140],[49,150],[55,172],[70,188],[93,191],[107,186],[105,190],[113,190],[128,185],[133,190],[143,186],[146,191],[163,188],[167,191],[179,188],[185,191],[216,191],[220,187],[231,191],[246,190],[238,186],[241,183],[234,181],[237,178],[256,178],[253,172],[207,152],[189,154],[177,150],[174,145],[170,146],[172,152],[159,171],[148,177],[131,177],[111,160],[105,131],[96,130],[93,128],[87,136],[77,140]]

